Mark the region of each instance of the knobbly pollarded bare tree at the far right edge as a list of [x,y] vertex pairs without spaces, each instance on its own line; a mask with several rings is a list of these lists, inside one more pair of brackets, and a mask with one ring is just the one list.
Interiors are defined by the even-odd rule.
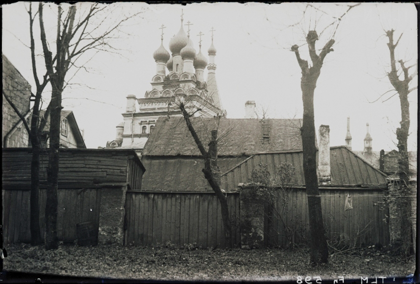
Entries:
[[[398,40],[394,43],[394,30],[390,29],[386,31],[386,36],[389,42],[387,43],[389,49],[391,71],[388,72],[388,79],[395,91],[399,95],[400,107],[401,107],[401,127],[396,129],[397,136],[397,147],[398,147],[398,175],[399,175],[399,188],[398,192],[401,196],[398,206],[402,209],[400,215],[400,226],[401,226],[401,241],[402,241],[402,253],[406,256],[413,255],[413,228],[411,226],[411,200],[404,198],[410,196],[410,181],[409,181],[409,155],[407,149],[407,139],[409,136],[410,129],[410,110],[408,95],[413,90],[417,89],[418,86],[410,88],[410,83],[413,78],[418,75],[418,65],[412,65],[406,67],[403,60],[395,59],[395,48],[397,47],[402,33]],[[397,62],[401,66],[402,72],[398,74],[399,70],[396,67]],[[416,67],[416,71],[409,75],[409,69]],[[401,79],[400,79],[401,77]]]

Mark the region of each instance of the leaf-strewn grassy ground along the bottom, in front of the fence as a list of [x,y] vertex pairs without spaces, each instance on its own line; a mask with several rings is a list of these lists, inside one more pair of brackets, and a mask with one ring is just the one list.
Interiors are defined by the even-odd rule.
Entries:
[[[79,247],[13,244],[6,247],[5,271],[65,276],[147,280],[292,280],[314,276],[323,280],[373,276],[407,276],[415,260],[392,256],[386,249],[355,249],[330,256],[329,263],[311,267],[307,249],[198,250],[165,247]],[[369,281],[370,283],[371,281]],[[341,282],[339,282],[341,283]],[[378,282],[379,283],[379,282]]]

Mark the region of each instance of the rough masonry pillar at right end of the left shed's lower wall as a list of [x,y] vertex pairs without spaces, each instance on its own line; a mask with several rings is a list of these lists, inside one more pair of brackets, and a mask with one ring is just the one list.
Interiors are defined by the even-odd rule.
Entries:
[[124,218],[127,185],[103,187],[100,198],[98,243],[124,244]]

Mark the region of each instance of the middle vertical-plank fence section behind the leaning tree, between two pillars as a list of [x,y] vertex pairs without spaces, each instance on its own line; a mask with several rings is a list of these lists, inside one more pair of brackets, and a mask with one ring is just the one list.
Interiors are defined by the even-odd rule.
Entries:
[[[220,202],[208,193],[128,192],[126,244],[156,245],[170,241],[203,248],[225,247]],[[235,244],[240,243],[239,194],[227,194]]]

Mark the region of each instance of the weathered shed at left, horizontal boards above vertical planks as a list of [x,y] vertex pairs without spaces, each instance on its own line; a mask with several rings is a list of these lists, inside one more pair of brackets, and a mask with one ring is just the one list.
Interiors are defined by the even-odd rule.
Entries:
[[[2,149],[3,237],[5,243],[29,242],[31,148]],[[40,227],[45,227],[48,152],[40,163]],[[76,224],[91,221],[99,227],[103,193],[140,189],[145,168],[129,149],[60,149],[58,190],[58,238],[76,239]],[[125,189],[121,191],[121,189]],[[108,196],[108,194],[106,194]],[[119,206],[120,200],[115,200]],[[101,204],[102,203],[102,204]],[[102,210],[103,211],[103,210]],[[103,217],[103,216],[102,216]],[[123,215],[124,219],[124,215]]]

